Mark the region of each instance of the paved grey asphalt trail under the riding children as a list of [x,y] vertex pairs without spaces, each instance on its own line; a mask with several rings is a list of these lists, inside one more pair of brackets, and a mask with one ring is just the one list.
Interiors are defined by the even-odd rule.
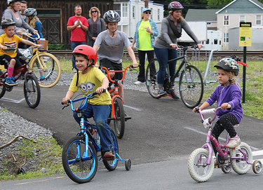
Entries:
[[[29,121],[50,128],[60,144],[76,135],[79,127],[72,117],[72,111],[69,108],[62,110],[60,103],[67,92],[66,86],[41,88],[41,103],[36,109],[30,109],[25,100],[22,101],[24,95],[20,87],[6,93],[0,100],[1,107],[7,107]],[[18,100],[19,103],[8,102],[6,97]],[[117,172],[109,175],[105,169],[98,170],[94,180],[86,185],[76,186],[64,175],[25,180],[30,181],[25,186],[18,185],[18,182],[2,182],[0,189],[8,184],[14,185],[12,189],[18,189],[19,186],[22,189],[33,189],[36,184],[44,184],[45,189],[85,189],[87,186],[91,189],[116,189],[121,184],[120,189],[173,189],[175,186],[178,189],[203,189],[205,185],[194,185],[196,183],[187,172],[187,158],[191,151],[205,142],[204,134],[207,132],[202,127],[198,114],[192,113],[181,100],[169,97],[156,100],[148,93],[135,90],[125,90],[125,106],[125,111],[132,119],[126,122],[123,139],[118,141],[121,157],[130,158],[133,163],[129,172],[123,168],[124,163],[119,163]],[[112,123],[110,126],[112,127]],[[252,146],[253,151],[263,149],[262,120],[245,116],[238,134],[242,141]],[[227,179],[220,170],[216,170],[215,177],[208,185],[211,188],[218,184],[217,175],[219,179]],[[236,176],[234,172],[230,175]],[[263,184],[262,175],[253,175],[251,170],[248,175],[238,177],[240,183],[243,176],[248,176],[248,179],[253,177],[253,182]],[[40,181],[37,182],[38,180]],[[111,180],[114,182],[107,186]],[[248,186],[241,187],[245,189]]]

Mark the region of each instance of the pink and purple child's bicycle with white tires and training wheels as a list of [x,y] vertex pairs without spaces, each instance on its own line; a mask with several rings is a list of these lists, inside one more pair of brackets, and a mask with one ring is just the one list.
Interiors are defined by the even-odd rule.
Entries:
[[[214,159],[213,159],[213,147],[210,144],[210,141],[215,144],[217,148],[217,163],[219,163],[219,168],[222,168],[222,171],[229,173],[231,168],[238,174],[245,174],[248,172],[252,165],[252,170],[255,174],[259,174],[262,171],[262,162],[260,160],[255,160],[252,163],[252,151],[250,146],[245,142],[234,148],[227,148],[227,144],[230,140],[229,134],[227,134],[227,139],[225,144],[220,144],[215,137],[212,135],[212,123],[216,118],[217,109],[204,109],[199,111],[199,108],[196,107],[196,111],[201,116],[201,122],[205,128],[208,128],[208,135],[206,137],[205,144],[202,148],[192,151],[188,158],[188,171],[191,177],[196,182],[205,182],[213,174],[215,168]],[[204,118],[203,114],[214,114],[213,118]]]

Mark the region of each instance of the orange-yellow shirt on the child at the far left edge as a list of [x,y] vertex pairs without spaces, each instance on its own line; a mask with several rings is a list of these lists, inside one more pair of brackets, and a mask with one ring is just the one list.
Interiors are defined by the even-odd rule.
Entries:
[[[20,43],[21,41],[22,41],[22,38],[20,38],[20,36],[17,36],[17,35],[13,35],[11,39],[8,39],[6,34],[2,34],[0,36],[0,43],[3,46],[6,46],[8,48],[18,48],[18,43]],[[16,57],[17,54],[18,54],[17,50],[6,51],[6,50],[0,49],[0,55],[9,55],[10,57]]]

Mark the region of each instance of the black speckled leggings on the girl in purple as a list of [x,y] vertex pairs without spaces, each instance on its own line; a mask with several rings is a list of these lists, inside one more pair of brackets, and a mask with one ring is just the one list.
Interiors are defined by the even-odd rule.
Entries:
[[[234,128],[234,125],[237,125],[238,120],[236,119],[236,116],[233,114],[224,114],[223,116],[220,117],[220,119],[215,123],[213,130],[212,130],[212,135],[217,139],[220,136],[220,134],[224,131],[227,130],[227,133],[229,133],[230,137],[235,137],[236,136],[236,130]],[[215,155],[217,154],[217,150],[215,149],[215,145],[212,143],[213,149],[215,151]]]

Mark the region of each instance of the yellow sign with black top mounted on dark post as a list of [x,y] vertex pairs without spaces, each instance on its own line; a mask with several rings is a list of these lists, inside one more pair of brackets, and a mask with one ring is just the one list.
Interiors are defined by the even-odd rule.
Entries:
[[251,22],[240,22],[239,46],[252,46],[252,24]]

